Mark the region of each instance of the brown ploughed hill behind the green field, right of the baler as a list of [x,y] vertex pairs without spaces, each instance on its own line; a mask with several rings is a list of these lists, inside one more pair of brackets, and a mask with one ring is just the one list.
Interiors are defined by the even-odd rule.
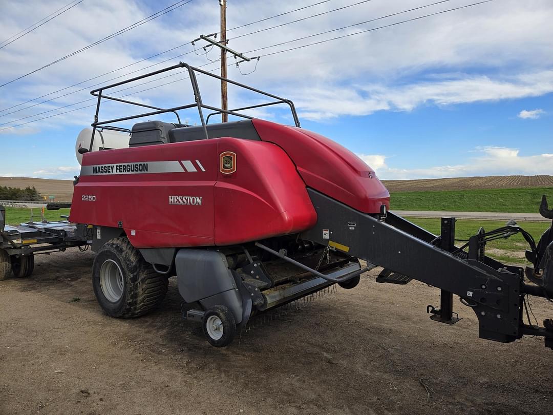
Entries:
[[553,176],[487,176],[450,179],[383,180],[390,193],[468,189],[521,189],[553,187]]

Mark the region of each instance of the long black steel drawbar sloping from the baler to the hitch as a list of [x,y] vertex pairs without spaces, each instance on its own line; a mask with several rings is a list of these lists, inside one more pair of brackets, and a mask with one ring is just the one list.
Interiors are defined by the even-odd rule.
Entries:
[[[546,297],[542,287],[524,283],[523,268],[506,266],[492,258],[472,258],[472,252],[453,250],[453,218],[437,237],[409,221],[388,212],[378,215],[356,211],[318,191],[307,189],[317,211],[317,224],[301,234],[307,241],[327,245],[323,230],[347,249],[348,255],[392,269],[405,276],[441,290],[441,310],[434,320],[454,323],[452,293],[471,307],[480,325],[480,337],[508,343],[523,335],[544,336],[545,345],[553,349],[553,329],[524,323],[525,295]],[[343,226],[357,224],[351,231]],[[444,240],[444,241],[442,241]],[[439,242],[439,243],[438,243]]]

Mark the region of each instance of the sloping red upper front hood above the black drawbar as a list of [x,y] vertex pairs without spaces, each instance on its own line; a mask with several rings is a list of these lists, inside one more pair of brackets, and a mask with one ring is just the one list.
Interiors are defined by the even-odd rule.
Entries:
[[264,120],[253,125],[263,141],[284,149],[310,188],[365,213],[389,207],[390,194],[374,171],[340,144],[302,128]]

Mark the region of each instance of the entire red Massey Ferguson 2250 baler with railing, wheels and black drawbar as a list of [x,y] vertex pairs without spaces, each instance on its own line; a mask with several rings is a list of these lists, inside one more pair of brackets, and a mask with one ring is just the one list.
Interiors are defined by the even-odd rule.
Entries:
[[[106,95],[182,68],[194,91],[189,105],[160,108]],[[456,247],[455,219],[442,218],[434,235],[389,212],[388,191],[373,170],[300,128],[291,101],[226,80],[273,101],[222,110],[202,101],[196,74],[223,80],[180,63],[92,91],[95,122],[77,141],[82,167],[69,219],[91,237],[92,284],[106,313],[127,318],[154,310],[176,276],[185,317],[202,322],[212,345],[225,346],[253,315],[335,283],[354,288],[362,273],[380,266],[379,282],[417,279],[440,288],[440,309],[429,306],[437,321],[457,320],[457,294],[476,313],[481,338],[506,343],[538,335],[553,347],[551,320],[543,327],[523,320],[526,296],[553,297],[553,232],[536,245],[510,222]],[[103,99],[152,111],[98,121]],[[290,107],[295,126],[241,112],[278,104]],[[179,111],[189,108],[197,108],[201,125],[181,123]],[[207,118],[204,109],[212,111]],[[176,123],[113,126],[170,112]],[[208,123],[223,112],[244,119]],[[540,211],[553,219],[545,197]],[[487,241],[517,233],[529,242],[533,267],[485,255]]]

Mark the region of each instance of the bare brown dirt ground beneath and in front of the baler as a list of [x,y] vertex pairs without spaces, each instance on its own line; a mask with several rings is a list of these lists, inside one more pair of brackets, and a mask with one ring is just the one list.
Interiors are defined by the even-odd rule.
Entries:
[[431,321],[425,284],[373,271],[216,349],[182,320],[174,279],[158,312],[107,317],[92,260],[39,255],[32,277],[0,282],[0,414],[551,413],[553,351],[478,339],[458,302],[457,324]]

